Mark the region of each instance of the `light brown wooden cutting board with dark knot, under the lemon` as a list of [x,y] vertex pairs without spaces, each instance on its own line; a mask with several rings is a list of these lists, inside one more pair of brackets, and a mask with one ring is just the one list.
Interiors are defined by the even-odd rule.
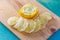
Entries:
[[[19,9],[27,3],[33,3],[39,7],[39,13],[49,12],[53,19],[46,25],[42,31],[32,34],[20,33],[7,24],[7,19],[11,16],[19,16]],[[60,28],[59,17],[43,7],[36,0],[0,0],[0,22],[10,29],[17,37],[22,40],[47,40],[57,29]]]

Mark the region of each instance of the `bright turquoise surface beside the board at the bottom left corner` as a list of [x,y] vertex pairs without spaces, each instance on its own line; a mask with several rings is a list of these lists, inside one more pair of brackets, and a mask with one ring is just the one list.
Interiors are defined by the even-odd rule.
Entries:
[[0,40],[19,40],[19,38],[0,22]]

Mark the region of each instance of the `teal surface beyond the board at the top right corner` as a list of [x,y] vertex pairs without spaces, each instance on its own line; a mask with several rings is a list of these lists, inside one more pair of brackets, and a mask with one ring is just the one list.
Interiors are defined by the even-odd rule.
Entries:
[[60,0],[37,0],[37,1],[60,17]]

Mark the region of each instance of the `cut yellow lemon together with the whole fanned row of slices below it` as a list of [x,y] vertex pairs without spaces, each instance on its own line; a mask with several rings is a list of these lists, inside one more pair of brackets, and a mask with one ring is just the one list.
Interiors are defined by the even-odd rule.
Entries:
[[45,28],[48,21],[52,19],[51,14],[48,12],[41,13],[34,18],[34,16],[38,14],[38,9],[32,4],[23,6],[19,14],[21,17],[10,17],[7,23],[18,31],[26,33],[42,30]]

